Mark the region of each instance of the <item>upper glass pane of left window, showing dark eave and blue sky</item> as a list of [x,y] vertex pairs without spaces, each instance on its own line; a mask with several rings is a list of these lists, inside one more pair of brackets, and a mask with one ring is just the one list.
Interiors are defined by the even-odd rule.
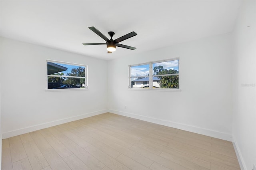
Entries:
[[85,72],[86,72],[85,66],[47,62],[48,75],[85,77]]

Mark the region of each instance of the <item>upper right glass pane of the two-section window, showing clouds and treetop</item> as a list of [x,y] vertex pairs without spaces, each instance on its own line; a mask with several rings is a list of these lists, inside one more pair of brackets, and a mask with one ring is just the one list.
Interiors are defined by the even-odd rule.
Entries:
[[153,63],[153,75],[179,73],[179,60]]

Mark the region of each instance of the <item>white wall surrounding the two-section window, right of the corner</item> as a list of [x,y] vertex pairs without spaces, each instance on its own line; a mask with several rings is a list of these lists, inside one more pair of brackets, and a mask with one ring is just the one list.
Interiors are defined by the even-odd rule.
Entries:
[[[225,34],[108,61],[108,109],[231,141],[230,51],[231,34]],[[128,90],[128,65],[175,57],[180,92]]]

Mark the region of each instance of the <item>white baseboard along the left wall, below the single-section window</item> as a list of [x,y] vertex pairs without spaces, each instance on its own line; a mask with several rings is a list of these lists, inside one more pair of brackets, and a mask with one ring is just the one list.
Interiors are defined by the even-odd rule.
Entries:
[[4,132],[4,133],[2,133],[2,139],[10,138],[12,136],[17,136],[17,135],[28,133],[28,132],[33,132],[35,130],[40,130],[40,129],[43,129],[43,128],[48,128],[48,127],[60,125],[60,124],[63,124],[63,123],[77,121],[79,119],[84,119],[84,118],[87,118],[87,117],[100,115],[100,114],[106,113],[106,112],[108,112],[108,110],[95,111],[95,112],[91,112],[91,113],[85,113],[83,115],[68,117],[68,118],[65,118],[65,119],[57,120],[57,121],[42,123],[42,124],[34,125],[34,126],[31,126],[31,127],[25,127],[25,128],[12,130],[12,131],[9,131],[9,132]]

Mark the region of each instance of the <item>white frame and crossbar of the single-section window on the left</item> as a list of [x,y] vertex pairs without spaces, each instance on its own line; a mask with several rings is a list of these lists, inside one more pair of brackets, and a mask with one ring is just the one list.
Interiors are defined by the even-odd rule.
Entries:
[[[47,74],[47,65],[48,62],[51,63],[61,63],[61,64],[67,64],[67,65],[75,65],[75,66],[81,66],[81,67],[85,67],[85,77],[78,77],[78,76],[67,76],[67,75],[48,75]],[[85,88],[77,88],[77,89],[72,89],[72,88],[67,88],[67,89],[48,89],[48,77],[70,77],[70,78],[85,78]],[[88,87],[88,65],[84,65],[84,64],[76,64],[76,63],[70,63],[70,62],[64,62],[64,61],[56,61],[56,60],[50,60],[50,59],[46,59],[46,91],[75,91],[75,90],[87,90],[89,89]]]

